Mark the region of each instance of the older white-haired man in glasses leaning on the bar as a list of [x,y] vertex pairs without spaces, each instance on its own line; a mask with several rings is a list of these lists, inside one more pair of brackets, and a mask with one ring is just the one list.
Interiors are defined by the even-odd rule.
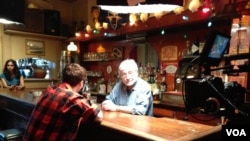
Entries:
[[153,116],[153,97],[149,84],[138,74],[137,63],[126,59],[119,65],[121,81],[112,89],[102,109],[134,115]]

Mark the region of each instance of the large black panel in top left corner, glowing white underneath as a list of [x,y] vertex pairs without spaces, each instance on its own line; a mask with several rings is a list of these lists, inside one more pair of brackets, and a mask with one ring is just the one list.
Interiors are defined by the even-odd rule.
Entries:
[[0,19],[24,23],[25,0],[0,0]]

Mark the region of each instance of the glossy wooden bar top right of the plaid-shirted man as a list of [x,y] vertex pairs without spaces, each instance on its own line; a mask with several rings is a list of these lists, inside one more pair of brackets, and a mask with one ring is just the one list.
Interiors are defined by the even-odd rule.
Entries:
[[104,111],[102,126],[148,140],[194,140],[220,132],[221,126],[209,126],[171,118],[156,118]]

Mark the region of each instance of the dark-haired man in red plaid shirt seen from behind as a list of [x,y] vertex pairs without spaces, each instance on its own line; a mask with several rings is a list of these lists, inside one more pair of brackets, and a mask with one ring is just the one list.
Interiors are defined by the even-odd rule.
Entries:
[[84,86],[85,68],[72,63],[63,70],[62,83],[43,91],[35,106],[24,141],[74,141],[81,123],[100,122],[102,112],[78,92]]

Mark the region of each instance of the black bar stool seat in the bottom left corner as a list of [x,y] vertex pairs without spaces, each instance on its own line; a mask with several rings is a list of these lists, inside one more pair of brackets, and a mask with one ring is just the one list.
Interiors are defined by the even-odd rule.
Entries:
[[0,141],[22,141],[24,129],[6,129],[0,131]]

